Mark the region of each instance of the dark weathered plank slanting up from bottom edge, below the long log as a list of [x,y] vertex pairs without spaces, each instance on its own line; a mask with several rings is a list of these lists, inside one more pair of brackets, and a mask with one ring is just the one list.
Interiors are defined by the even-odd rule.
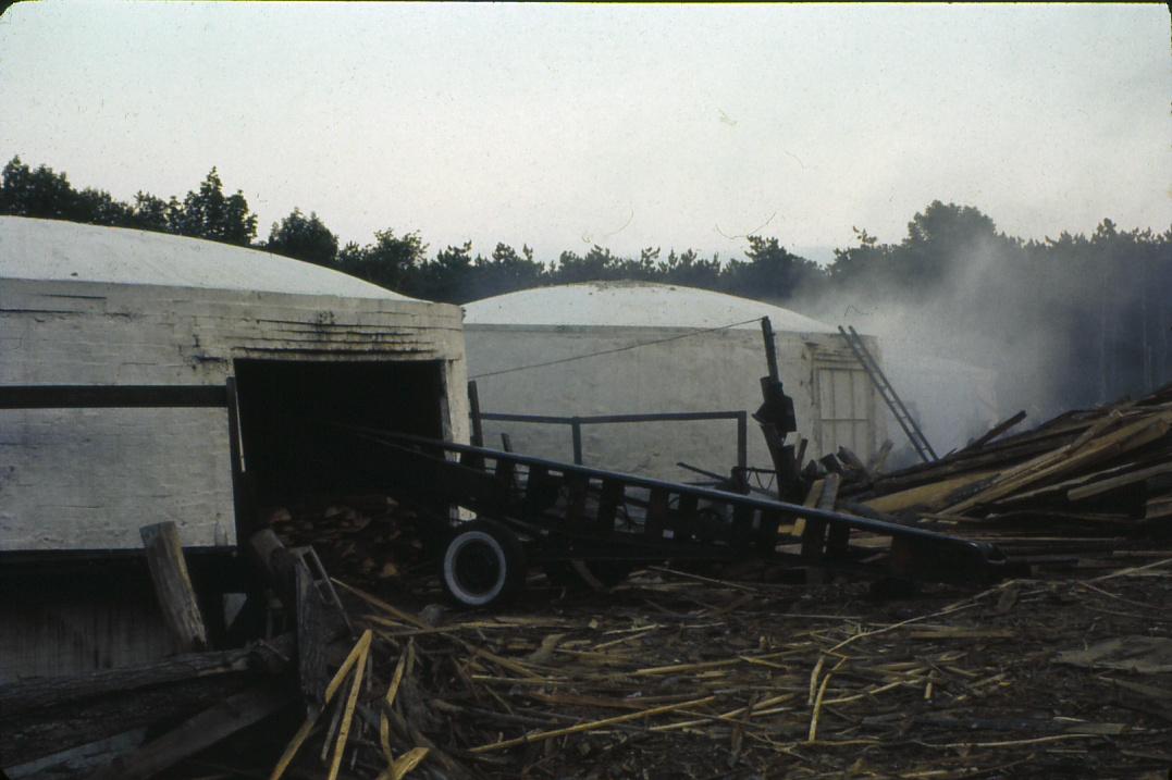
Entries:
[[297,691],[281,684],[268,684],[230,696],[130,755],[116,759],[105,769],[91,775],[91,780],[139,780],[156,776],[189,755],[273,714],[295,698]]

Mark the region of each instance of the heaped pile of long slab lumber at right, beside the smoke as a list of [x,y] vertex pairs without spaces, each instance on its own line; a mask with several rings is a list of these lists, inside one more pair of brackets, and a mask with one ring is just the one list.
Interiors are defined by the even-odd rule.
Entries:
[[843,478],[839,507],[990,540],[1021,560],[1125,547],[1172,529],[1172,385],[1006,436],[1023,418],[899,471],[831,457]]

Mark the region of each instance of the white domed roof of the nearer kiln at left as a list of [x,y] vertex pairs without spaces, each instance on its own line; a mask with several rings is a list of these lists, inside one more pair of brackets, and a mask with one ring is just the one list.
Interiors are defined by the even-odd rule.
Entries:
[[414,300],[338,271],[258,249],[27,217],[0,217],[4,278]]

